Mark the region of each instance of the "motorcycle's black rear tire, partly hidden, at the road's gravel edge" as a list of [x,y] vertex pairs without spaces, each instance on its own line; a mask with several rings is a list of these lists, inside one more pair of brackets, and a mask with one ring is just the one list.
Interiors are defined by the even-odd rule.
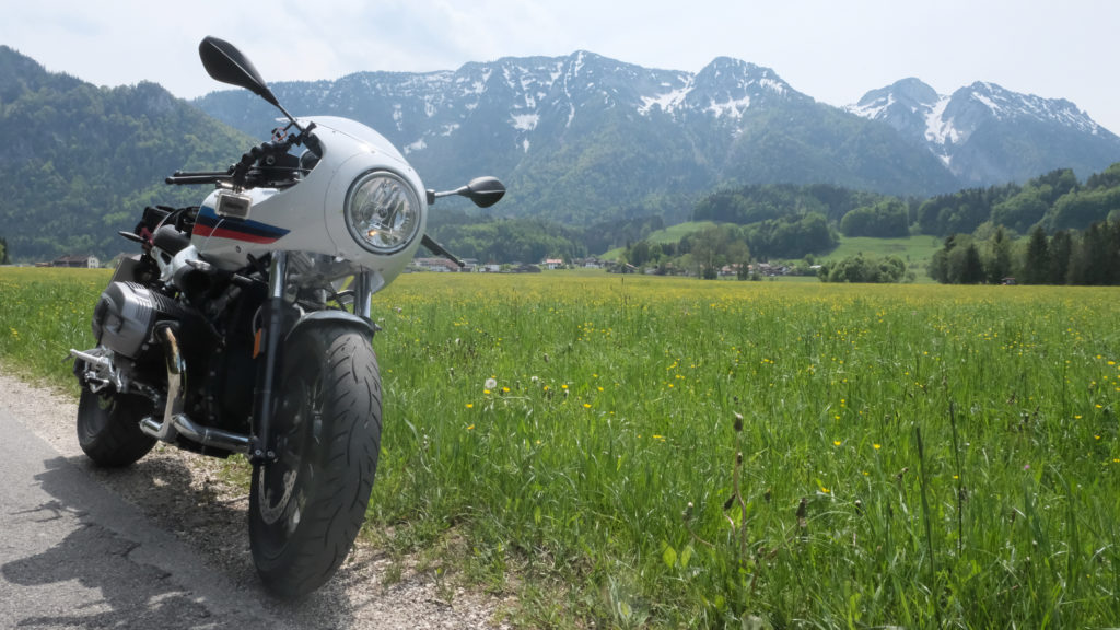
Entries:
[[83,388],[77,404],[77,443],[99,466],[132,464],[156,445],[156,438],[140,430],[140,420],[151,411],[147,398]]

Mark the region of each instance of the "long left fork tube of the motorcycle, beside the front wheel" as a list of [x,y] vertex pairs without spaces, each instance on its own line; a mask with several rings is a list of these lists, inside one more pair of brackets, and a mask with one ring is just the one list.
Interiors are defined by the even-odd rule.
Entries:
[[279,368],[280,340],[283,339],[283,293],[288,276],[288,252],[272,252],[269,267],[269,298],[264,303],[264,331],[262,333],[261,377],[256,385],[256,435],[253,443],[253,463],[276,461],[272,450],[272,390],[276,387]]

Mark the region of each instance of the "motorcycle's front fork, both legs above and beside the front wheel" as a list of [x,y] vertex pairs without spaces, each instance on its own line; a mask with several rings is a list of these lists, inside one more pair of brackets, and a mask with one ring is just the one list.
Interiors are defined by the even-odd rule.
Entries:
[[[354,316],[370,322],[373,297],[373,277],[368,271],[361,271],[354,277]],[[264,327],[260,332],[258,348],[264,356],[262,369],[258,372],[256,390],[253,393],[253,437],[249,450],[250,461],[254,464],[274,462],[277,458],[272,442],[272,420],[276,415],[276,397],[273,391],[279,385],[277,373],[280,369],[280,344],[287,337],[291,327],[284,325],[284,308],[288,286],[288,252],[272,252],[269,266],[269,297],[264,302],[261,321]],[[371,323],[372,324],[372,323]],[[371,330],[372,333],[372,330]]]

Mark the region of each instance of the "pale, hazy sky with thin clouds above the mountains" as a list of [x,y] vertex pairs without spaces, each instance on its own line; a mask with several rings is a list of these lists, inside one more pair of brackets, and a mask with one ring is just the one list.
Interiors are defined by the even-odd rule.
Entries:
[[589,50],[699,72],[718,56],[774,70],[832,105],[916,76],[1066,99],[1120,133],[1113,0],[37,0],[4,2],[0,44],[97,85],[228,89],[198,62],[213,35],[267,81],[456,70]]

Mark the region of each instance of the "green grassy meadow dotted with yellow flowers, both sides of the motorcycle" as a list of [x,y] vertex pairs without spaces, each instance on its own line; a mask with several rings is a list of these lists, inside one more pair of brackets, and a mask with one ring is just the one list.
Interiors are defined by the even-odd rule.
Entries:
[[[0,270],[0,360],[64,382],[105,279]],[[1114,288],[430,274],[374,313],[368,531],[526,624],[1120,620]]]

